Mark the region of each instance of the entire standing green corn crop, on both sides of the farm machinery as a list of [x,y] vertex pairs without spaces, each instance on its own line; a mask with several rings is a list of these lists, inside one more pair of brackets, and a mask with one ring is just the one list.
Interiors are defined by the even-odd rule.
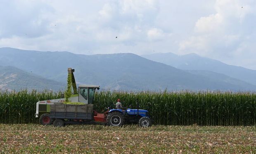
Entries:
[[[38,100],[56,99],[54,92],[0,92],[0,123],[38,123]],[[121,99],[122,106],[149,111],[154,124],[242,125],[256,124],[256,94],[232,92],[97,92],[98,112]]]

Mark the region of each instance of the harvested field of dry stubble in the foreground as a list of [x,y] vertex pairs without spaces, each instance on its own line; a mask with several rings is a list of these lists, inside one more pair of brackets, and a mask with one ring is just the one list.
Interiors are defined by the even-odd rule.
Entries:
[[256,126],[0,124],[2,153],[256,153]]

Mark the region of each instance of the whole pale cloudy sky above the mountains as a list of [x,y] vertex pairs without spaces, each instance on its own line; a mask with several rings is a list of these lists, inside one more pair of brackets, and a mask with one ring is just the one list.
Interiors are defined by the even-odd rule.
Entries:
[[256,0],[0,0],[0,47],[197,53],[256,70]]

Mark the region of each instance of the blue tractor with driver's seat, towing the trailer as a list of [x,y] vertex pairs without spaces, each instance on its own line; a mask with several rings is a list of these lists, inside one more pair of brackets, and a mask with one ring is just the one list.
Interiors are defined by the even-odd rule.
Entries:
[[139,123],[142,127],[149,127],[152,121],[147,110],[125,108],[114,109],[109,107],[107,123],[111,126],[122,126],[124,123]]

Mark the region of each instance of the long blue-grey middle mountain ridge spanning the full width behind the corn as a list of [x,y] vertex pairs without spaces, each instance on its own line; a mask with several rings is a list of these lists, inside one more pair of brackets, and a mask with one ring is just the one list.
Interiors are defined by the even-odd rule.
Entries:
[[66,82],[67,68],[72,67],[77,83],[110,90],[255,90],[255,86],[244,82],[211,80],[131,53],[77,55],[0,48],[0,65],[12,65],[62,82]]

